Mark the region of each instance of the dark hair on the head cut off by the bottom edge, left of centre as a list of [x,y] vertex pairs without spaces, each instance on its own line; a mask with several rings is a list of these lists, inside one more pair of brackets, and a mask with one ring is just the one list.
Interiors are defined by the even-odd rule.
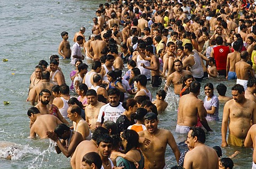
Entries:
[[100,158],[100,155],[95,152],[90,152],[84,155],[82,162],[85,162],[86,164],[92,165],[95,164],[97,168],[101,168],[102,166],[102,160]]

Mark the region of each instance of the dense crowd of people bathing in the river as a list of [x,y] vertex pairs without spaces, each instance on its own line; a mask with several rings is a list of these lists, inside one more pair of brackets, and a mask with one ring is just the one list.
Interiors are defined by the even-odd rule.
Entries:
[[[237,153],[221,158],[220,147],[204,144],[205,131],[212,131],[209,121],[221,120],[219,106],[225,104],[221,146],[255,145],[255,9],[246,0],[100,4],[92,34],[81,27],[71,46],[68,32],[61,32],[60,56],[52,55],[50,65],[39,61],[31,74],[30,137],[53,140],[58,154],[71,157],[72,168],[167,168],[167,145],[178,164],[172,168],[233,168]],[[70,86],[60,58],[76,67]],[[219,96],[213,78],[223,81]],[[230,98],[223,83],[233,79]],[[148,81],[159,88],[156,98]],[[202,81],[204,100],[198,98]],[[180,97],[172,132],[187,134],[182,154],[172,132],[158,128],[170,88]]]

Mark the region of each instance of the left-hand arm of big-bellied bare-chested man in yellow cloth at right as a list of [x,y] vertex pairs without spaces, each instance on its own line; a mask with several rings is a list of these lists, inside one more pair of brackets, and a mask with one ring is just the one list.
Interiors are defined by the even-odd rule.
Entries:
[[223,108],[223,116],[222,116],[222,125],[221,125],[221,138],[222,138],[222,142],[221,142],[221,147],[227,147],[228,143],[227,143],[227,130],[228,130],[228,119],[229,119],[229,104],[230,102],[232,102],[232,100],[230,100],[229,102],[227,102]]

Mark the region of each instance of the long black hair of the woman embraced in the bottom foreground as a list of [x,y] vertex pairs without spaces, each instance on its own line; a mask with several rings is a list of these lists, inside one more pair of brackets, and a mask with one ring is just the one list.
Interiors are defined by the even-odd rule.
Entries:
[[122,133],[122,138],[124,138],[127,141],[125,153],[130,151],[132,148],[138,148],[139,147],[139,134],[134,130],[125,130]]

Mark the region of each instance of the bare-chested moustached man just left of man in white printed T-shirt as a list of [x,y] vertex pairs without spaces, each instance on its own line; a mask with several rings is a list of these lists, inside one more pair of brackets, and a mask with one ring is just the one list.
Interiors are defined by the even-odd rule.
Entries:
[[105,103],[98,101],[97,92],[90,89],[86,92],[88,106],[85,107],[85,119],[91,130],[94,130],[100,108],[105,105]]

